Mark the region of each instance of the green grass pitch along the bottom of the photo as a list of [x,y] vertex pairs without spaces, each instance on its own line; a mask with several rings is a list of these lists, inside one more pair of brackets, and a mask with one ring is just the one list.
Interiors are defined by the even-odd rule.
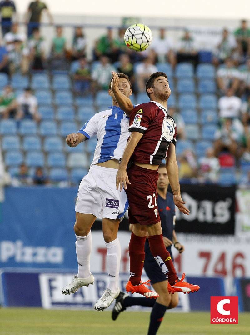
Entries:
[[[129,312],[111,320],[111,310],[0,309],[0,335],[146,335],[149,312]],[[158,334],[249,335],[250,313],[238,325],[210,325],[209,313],[166,313]]]

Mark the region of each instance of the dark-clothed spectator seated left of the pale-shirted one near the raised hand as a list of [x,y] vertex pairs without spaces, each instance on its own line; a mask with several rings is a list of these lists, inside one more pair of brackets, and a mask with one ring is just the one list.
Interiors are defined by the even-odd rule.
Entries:
[[79,67],[76,69],[73,79],[76,93],[84,95],[89,92],[91,87],[91,75],[85,57],[79,59]]

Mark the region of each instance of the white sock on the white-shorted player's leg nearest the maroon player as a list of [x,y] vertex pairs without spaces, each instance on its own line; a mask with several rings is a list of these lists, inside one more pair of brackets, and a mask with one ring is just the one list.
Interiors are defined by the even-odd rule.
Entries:
[[121,245],[119,239],[106,243],[107,247],[107,268],[109,274],[108,288],[117,292],[119,288],[119,271],[121,262]]

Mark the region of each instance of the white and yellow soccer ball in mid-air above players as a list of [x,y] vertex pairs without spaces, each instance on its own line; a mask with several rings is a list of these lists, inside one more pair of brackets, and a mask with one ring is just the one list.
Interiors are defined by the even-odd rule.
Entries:
[[132,24],[125,32],[124,40],[129,49],[135,51],[146,50],[152,43],[151,30],[145,24]]

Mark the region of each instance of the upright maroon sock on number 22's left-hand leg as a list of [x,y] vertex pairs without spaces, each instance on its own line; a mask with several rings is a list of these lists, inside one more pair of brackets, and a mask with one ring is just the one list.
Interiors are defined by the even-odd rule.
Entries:
[[146,237],[131,234],[128,251],[130,261],[130,278],[132,285],[139,285],[145,259],[144,245]]

